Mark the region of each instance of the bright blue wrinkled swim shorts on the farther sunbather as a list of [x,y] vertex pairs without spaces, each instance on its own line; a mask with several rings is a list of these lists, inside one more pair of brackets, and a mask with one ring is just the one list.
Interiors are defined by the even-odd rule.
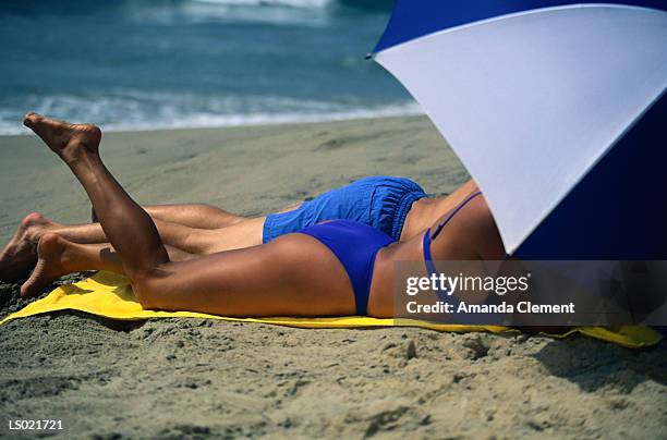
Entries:
[[424,190],[404,178],[364,178],[324,193],[299,208],[270,213],[264,222],[263,242],[299,232],[326,220],[353,220],[398,241],[412,204],[426,197]]

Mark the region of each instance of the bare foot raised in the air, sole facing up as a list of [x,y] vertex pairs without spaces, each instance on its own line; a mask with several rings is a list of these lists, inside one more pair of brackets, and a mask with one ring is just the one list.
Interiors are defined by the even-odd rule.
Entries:
[[84,152],[98,152],[101,131],[95,125],[70,124],[37,113],[27,113],[23,124],[65,162],[78,159]]

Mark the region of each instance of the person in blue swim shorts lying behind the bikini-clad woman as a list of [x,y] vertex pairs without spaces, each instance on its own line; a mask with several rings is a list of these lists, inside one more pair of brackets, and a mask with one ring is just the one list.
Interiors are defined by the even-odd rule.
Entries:
[[[329,191],[296,208],[259,218],[244,218],[202,204],[147,206],[144,209],[167,245],[169,258],[183,261],[266,244],[284,234],[338,219],[365,223],[396,241],[408,241],[475,191],[478,190],[471,181],[447,197],[429,198],[409,179],[376,176]],[[15,281],[27,276],[37,262],[37,243],[49,232],[78,244],[109,242],[98,222],[66,225],[36,212],[29,213],[0,252],[0,280]],[[52,274],[54,279],[60,278],[58,273]]]

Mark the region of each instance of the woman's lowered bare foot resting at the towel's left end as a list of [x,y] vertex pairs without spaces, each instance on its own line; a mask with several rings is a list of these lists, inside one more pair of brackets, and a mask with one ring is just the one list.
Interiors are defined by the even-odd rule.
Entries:
[[46,233],[41,236],[37,247],[39,259],[31,278],[21,286],[21,296],[34,296],[69,273],[66,269],[69,244],[70,242],[56,234]]

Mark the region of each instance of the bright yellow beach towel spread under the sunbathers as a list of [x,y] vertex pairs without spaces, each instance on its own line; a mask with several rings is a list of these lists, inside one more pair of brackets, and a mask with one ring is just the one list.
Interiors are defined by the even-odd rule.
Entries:
[[[209,318],[230,321],[263,322],[301,328],[371,328],[371,327],[421,327],[437,331],[513,331],[499,326],[454,326],[411,319],[377,319],[361,316],[340,318],[230,318],[194,311],[155,311],[145,310],[136,302],[132,288],[125,277],[109,272],[98,272],[82,282],[62,285],[48,296],[28,304],[23,309],[4,318],[1,323],[12,319],[57,310],[81,310],[111,319],[148,319],[148,318]],[[626,326],[617,329],[602,327],[581,327],[565,334],[553,335],[566,338],[581,333],[591,338],[613,342],[630,349],[640,349],[658,343],[663,337],[648,327]]]

